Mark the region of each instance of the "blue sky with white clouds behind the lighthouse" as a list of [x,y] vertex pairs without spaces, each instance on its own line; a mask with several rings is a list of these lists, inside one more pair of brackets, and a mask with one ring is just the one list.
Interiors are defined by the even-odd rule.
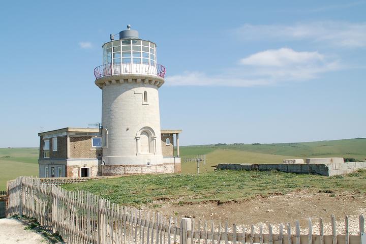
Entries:
[[101,121],[93,70],[131,24],[167,69],[180,144],[366,137],[366,1],[7,1],[0,147]]

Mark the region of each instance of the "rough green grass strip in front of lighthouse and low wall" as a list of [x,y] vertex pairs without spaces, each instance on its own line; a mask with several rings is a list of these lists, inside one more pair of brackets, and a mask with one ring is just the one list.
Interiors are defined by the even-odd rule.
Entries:
[[316,192],[366,193],[366,170],[345,176],[297,175],[277,171],[215,171],[197,174],[136,175],[64,185],[67,190],[85,190],[111,202],[155,206],[161,200],[176,204],[242,201],[255,196],[286,194],[299,189]]

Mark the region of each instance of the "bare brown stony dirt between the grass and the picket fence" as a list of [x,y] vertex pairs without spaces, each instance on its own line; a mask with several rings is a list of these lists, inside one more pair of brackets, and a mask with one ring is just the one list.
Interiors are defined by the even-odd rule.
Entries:
[[[358,217],[366,214],[366,196],[344,192],[342,194],[317,193],[310,191],[293,192],[287,195],[275,195],[270,197],[257,197],[237,203],[219,204],[208,202],[204,204],[192,204],[179,206],[176,203],[166,203],[157,209],[165,216],[190,217],[198,220],[214,221],[224,225],[245,225],[250,228],[251,224],[272,224],[273,231],[278,230],[278,224],[290,223],[294,226],[295,220],[300,221],[301,232],[308,233],[308,218],[312,219],[313,233],[319,232],[319,218],[325,223],[325,234],[330,234],[330,216],[334,214],[337,219],[338,232],[344,233],[344,218],[350,216],[350,232],[358,232]],[[208,224],[210,226],[210,223]],[[266,227],[264,227],[266,231]]]

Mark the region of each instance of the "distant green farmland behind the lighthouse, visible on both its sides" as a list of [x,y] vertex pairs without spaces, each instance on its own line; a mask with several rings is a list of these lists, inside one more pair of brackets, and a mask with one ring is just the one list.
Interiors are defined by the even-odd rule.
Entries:
[[[288,158],[343,157],[363,160],[366,158],[366,138],[334,141],[181,146],[180,156],[194,158],[206,154],[207,162],[200,166],[200,172],[214,171],[219,163],[281,163]],[[38,148],[0,148],[0,190],[6,181],[20,175],[38,175]],[[10,167],[9,167],[10,166]],[[182,160],[183,173],[197,172],[195,162]]]

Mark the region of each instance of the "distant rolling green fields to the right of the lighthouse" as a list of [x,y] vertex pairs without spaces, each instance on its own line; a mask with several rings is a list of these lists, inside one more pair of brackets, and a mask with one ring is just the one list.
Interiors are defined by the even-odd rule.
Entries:
[[197,163],[184,162],[184,158],[194,158],[206,154],[206,165],[200,172],[213,171],[219,163],[276,164],[289,158],[326,158],[341,157],[364,160],[366,158],[366,138],[333,141],[238,144],[238,145],[198,145],[181,146],[182,172],[197,172]]

